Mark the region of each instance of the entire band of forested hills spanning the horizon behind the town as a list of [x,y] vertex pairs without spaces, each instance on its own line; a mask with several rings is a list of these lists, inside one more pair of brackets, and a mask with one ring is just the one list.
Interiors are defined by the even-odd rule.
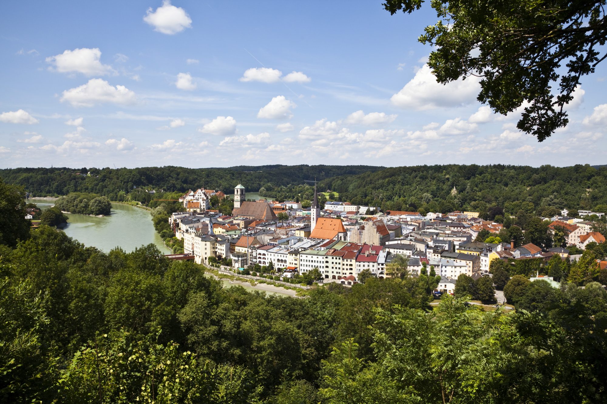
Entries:
[[[249,192],[279,199],[309,201],[319,180],[320,190],[336,192],[337,199],[384,210],[447,213],[455,209],[506,214],[520,210],[541,215],[544,210],[568,208],[607,210],[607,167],[528,167],[436,165],[415,167],[370,166],[239,166],[186,169],[5,169],[0,177],[36,196],[90,192],[110,200],[154,198],[145,189],[185,192],[205,186],[232,194],[238,183]],[[137,188],[137,189],[135,189]],[[143,188],[143,189],[142,189]],[[131,194],[131,197],[128,195]]]

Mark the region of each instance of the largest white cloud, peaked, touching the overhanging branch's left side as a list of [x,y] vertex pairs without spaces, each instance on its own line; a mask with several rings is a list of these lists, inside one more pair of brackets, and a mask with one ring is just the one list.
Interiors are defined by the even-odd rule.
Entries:
[[478,78],[474,76],[439,84],[426,64],[390,101],[398,107],[416,110],[456,107],[474,101],[479,90]]

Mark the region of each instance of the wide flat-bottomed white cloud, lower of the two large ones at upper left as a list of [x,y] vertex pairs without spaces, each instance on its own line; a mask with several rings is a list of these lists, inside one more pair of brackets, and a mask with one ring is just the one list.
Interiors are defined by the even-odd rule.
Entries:
[[103,79],[90,79],[80,87],[63,92],[61,101],[67,101],[74,107],[92,107],[97,103],[132,104],[135,93],[124,86],[110,86]]

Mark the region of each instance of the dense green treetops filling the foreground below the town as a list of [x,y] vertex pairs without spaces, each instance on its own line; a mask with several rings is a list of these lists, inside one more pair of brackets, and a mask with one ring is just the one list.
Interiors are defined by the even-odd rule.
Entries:
[[106,254],[27,231],[24,192],[0,181],[1,402],[607,401],[598,283],[513,276],[514,312],[430,306],[432,269],[266,297],[152,244]]

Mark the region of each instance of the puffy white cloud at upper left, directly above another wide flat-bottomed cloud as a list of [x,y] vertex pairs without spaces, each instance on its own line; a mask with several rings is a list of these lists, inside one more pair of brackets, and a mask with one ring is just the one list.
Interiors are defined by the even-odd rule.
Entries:
[[52,64],[49,70],[59,73],[82,73],[85,76],[103,76],[114,72],[111,66],[101,64],[99,48],[81,48],[49,56],[46,62]]

